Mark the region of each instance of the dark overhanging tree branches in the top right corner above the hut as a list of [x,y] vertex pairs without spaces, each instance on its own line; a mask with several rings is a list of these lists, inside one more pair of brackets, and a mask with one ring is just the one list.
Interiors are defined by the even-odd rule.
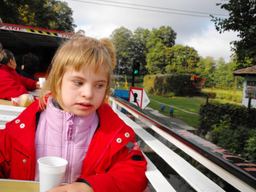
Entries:
[[240,40],[231,41],[234,46],[231,50],[237,55],[236,69],[256,65],[256,0],[228,0],[228,3],[219,5],[229,11],[230,16],[223,19],[211,15],[217,31],[239,32]]

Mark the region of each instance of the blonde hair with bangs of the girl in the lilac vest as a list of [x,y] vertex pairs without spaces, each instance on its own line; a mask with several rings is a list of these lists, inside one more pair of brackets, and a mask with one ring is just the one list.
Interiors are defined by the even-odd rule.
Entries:
[[108,83],[102,103],[110,95],[113,69],[116,66],[114,45],[109,38],[97,40],[91,37],[77,36],[67,40],[58,48],[48,69],[49,76],[41,89],[40,105],[46,103],[45,97],[51,92],[55,101],[63,107],[61,98],[61,80],[67,69],[84,71],[87,67],[97,73],[104,70],[108,76]]

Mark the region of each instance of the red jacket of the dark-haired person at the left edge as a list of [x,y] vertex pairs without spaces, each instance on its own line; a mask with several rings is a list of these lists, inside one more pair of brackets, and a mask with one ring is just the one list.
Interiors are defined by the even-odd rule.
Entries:
[[7,65],[0,66],[0,99],[11,100],[28,91],[36,90],[36,82],[32,79],[21,77],[17,72]]

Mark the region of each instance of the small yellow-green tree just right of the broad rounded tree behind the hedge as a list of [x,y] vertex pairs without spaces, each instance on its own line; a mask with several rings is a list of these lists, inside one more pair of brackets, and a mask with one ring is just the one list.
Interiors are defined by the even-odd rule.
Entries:
[[210,88],[214,86],[214,73],[216,62],[213,57],[200,58],[197,63],[196,75],[204,79],[204,86]]

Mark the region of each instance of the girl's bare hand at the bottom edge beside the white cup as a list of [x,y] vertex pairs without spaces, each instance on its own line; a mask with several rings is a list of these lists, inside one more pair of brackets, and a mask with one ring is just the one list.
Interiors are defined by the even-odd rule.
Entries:
[[47,192],[93,192],[93,188],[83,182],[74,182],[53,188]]

